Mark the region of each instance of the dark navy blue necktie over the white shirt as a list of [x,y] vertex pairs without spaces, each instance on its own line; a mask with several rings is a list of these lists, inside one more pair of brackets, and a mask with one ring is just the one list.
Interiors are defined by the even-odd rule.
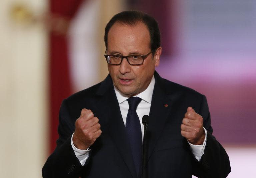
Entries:
[[129,110],[126,117],[126,133],[130,142],[133,161],[138,177],[142,168],[142,134],[141,125],[136,109],[142,99],[139,97],[128,98]]

